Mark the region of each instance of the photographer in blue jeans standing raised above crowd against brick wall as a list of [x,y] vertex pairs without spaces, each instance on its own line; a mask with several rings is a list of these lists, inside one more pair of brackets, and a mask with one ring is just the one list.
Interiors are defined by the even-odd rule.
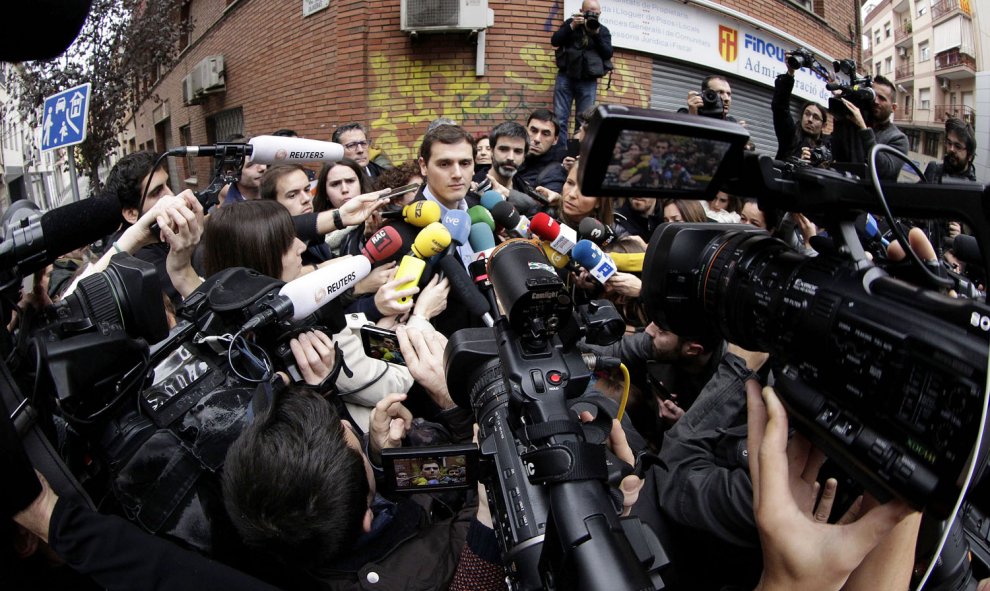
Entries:
[[557,81],[553,90],[553,110],[560,125],[560,143],[567,142],[571,103],[583,113],[595,104],[598,79],[612,69],[612,33],[598,18],[598,0],[584,0],[581,12],[557,29],[550,38],[557,61]]

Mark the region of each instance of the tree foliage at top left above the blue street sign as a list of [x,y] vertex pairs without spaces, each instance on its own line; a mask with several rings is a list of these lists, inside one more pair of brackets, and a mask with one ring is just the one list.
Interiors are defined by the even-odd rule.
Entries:
[[[147,99],[158,72],[178,57],[180,39],[191,23],[179,23],[179,7],[189,0],[93,0],[89,17],[72,46],[44,62],[24,62],[10,70],[18,78],[18,109],[30,125],[40,124],[46,96],[92,83],[86,141],[76,146],[76,162],[99,187],[97,174],[119,145],[127,116]],[[154,97],[152,97],[154,98]]]

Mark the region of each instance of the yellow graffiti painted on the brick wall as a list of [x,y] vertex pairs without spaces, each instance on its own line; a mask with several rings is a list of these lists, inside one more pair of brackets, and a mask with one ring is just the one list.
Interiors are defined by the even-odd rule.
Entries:
[[[517,56],[524,65],[512,62],[504,73],[495,70],[477,77],[473,63],[461,57],[371,55],[368,109],[375,146],[400,163],[416,156],[426,126],[438,117],[449,117],[478,133],[503,121],[520,120],[535,109],[550,108],[556,68],[549,46],[525,44]],[[615,66],[611,88],[605,89],[605,79],[601,82],[599,102],[645,107],[649,80],[638,79],[621,58]]]

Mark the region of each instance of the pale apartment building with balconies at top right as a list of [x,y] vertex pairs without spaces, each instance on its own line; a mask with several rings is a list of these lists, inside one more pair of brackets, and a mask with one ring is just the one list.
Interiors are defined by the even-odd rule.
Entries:
[[977,129],[978,154],[990,148],[986,133],[990,113],[983,110],[981,120],[977,108],[977,74],[986,68],[980,45],[990,45],[978,32],[978,4],[974,0],[884,0],[864,18],[863,68],[896,85],[895,123],[907,134],[910,156],[922,169],[928,161],[942,158],[949,116],[965,119]]

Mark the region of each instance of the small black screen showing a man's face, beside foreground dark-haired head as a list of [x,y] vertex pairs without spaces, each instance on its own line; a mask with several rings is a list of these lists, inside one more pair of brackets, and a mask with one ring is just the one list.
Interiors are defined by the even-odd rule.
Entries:
[[433,493],[478,485],[478,446],[438,445],[382,450],[385,490]]

